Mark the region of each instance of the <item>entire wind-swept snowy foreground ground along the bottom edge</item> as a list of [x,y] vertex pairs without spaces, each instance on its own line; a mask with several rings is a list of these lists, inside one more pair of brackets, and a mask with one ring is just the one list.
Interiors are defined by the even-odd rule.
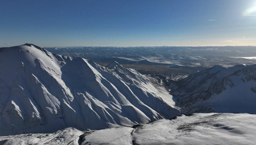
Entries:
[[145,125],[0,136],[0,144],[255,144],[256,115],[196,113]]

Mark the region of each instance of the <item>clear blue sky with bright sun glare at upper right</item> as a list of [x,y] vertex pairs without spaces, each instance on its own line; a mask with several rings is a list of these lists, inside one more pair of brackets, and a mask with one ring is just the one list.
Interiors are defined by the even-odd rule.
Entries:
[[256,45],[256,0],[0,0],[0,47]]

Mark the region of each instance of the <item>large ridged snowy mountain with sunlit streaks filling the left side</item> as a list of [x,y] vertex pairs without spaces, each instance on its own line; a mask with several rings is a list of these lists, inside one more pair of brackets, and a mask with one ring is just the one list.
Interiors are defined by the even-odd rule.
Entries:
[[32,44],[1,48],[0,135],[131,126],[180,114],[145,76],[112,66]]

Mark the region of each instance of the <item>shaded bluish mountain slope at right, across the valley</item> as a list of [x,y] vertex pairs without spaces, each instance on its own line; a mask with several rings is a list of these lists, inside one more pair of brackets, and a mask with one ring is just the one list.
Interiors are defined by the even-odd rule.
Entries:
[[256,113],[256,65],[215,66],[181,80],[172,95],[184,113]]

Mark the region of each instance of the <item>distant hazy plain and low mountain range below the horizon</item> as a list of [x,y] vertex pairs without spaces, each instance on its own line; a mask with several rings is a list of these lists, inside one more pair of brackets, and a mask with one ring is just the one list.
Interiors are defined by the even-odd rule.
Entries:
[[[83,57],[102,65],[118,61],[123,66],[136,69],[143,74],[160,72],[166,76],[174,72],[194,74],[214,65],[231,67],[237,64],[256,63],[256,46],[46,47],[45,49],[60,55]],[[153,66],[157,66],[158,69],[154,69]]]

